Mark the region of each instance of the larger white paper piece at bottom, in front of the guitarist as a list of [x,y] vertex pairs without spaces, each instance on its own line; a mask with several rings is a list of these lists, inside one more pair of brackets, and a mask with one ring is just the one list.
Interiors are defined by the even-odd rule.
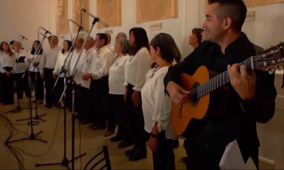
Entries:
[[219,163],[220,169],[246,169],[244,159],[236,139],[229,143]]

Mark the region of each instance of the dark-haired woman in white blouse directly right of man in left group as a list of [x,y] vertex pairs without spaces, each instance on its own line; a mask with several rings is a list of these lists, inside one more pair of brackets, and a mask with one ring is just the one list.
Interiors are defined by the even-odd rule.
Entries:
[[[55,90],[53,92],[54,97],[55,97],[55,101],[59,101],[63,90],[64,90],[64,77],[66,77],[66,83],[68,81],[69,78],[69,73],[70,73],[70,69],[69,69],[69,62],[70,62],[70,56],[72,53],[70,53],[69,57],[67,57],[69,50],[72,46],[72,42],[69,40],[65,40],[63,41],[63,49],[61,51],[59,51],[58,53],[58,57],[57,57],[57,61],[53,70],[53,78],[57,78],[57,76],[59,75],[62,66],[64,65],[64,70],[66,70],[66,74],[65,73],[61,73],[59,75],[59,79],[58,82],[55,86]],[[67,59],[66,59],[67,58]],[[67,60],[65,62],[65,60]],[[72,73],[70,73],[72,74]],[[66,89],[66,103],[65,106],[66,108],[72,109],[72,84],[68,84],[67,89]],[[64,101],[65,101],[64,99]]]

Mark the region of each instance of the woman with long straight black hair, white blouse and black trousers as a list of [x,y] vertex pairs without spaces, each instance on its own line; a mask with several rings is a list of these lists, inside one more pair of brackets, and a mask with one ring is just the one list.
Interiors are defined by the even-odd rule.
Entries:
[[145,75],[150,69],[150,44],[145,29],[134,27],[129,30],[129,43],[132,46],[130,57],[125,64],[125,101],[128,118],[127,136],[119,144],[120,148],[131,145],[126,151],[129,160],[136,161],[147,157],[147,132],[144,130],[144,119],[141,101],[141,89],[145,84]]

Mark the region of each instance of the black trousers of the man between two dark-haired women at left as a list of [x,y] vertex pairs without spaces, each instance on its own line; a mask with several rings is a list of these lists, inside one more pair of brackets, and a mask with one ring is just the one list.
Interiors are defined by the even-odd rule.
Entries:
[[44,82],[45,82],[45,102],[47,106],[52,106],[54,104],[57,106],[57,102],[54,99],[54,95],[51,93],[51,90],[55,84],[55,79],[53,78],[53,70],[54,69],[47,69],[44,68]]

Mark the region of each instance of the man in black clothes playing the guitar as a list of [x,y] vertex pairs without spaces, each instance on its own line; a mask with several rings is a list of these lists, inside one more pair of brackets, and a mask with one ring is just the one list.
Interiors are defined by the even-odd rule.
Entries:
[[[206,41],[188,57],[169,67],[164,79],[165,92],[177,105],[190,96],[180,84],[181,73],[193,75],[201,65],[219,73],[228,71],[230,83],[210,93],[210,104],[203,119],[192,119],[183,135],[187,169],[220,169],[226,145],[235,139],[244,162],[251,157],[258,168],[256,122],[266,123],[274,115],[274,74],[247,72],[239,64],[255,56],[253,44],[241,32],[246,17],[242,0],[212,0],[205,12]],[[257,77],[257,78],[256,78]],[[177,110],[178,112],[178,110]],[[184,114],[187,113],[183,110]]]

